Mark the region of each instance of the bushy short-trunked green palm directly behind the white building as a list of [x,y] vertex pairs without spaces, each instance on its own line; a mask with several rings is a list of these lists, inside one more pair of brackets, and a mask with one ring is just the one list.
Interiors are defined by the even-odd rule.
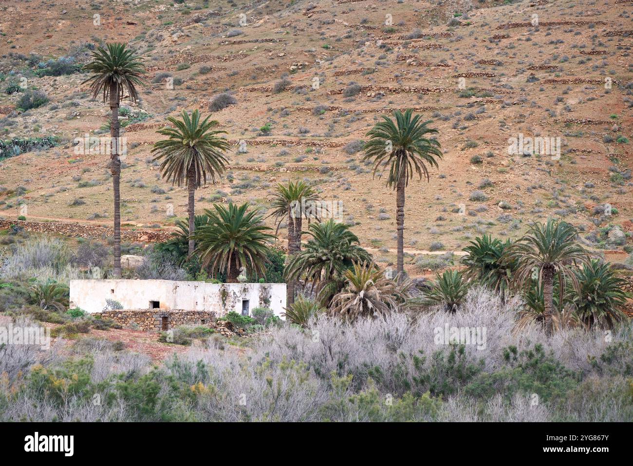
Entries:
[[237,275],[244,267],[245,272],[266,274],[266,255],[268,243],[275,236],[267,233],[272,230],[262,223],[257,211],[248,210],[248,203],[229,208],[214,204],[215,211],[204,210],[209,222],[193,234],[197,241],[195,253],[200,255],[204,267],[211,275],[226,272],[227,282],[237,283]]

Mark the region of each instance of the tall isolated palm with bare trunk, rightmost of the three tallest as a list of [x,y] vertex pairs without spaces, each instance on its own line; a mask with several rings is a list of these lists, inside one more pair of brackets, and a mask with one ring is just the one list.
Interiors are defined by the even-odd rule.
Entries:
[[413,116],[413,110],[404,113],[394,111],[394,123],[391,118],[382,116],[384,121],[376,123],[367,135],[370,140],[365,144],[363,161],[373,161],[373,175],[380,175],[389,168],[387,186],[396,190],[396,229],[398,233],[397,272],[404,272],[404,188],[409,180],[418,174],[424,175],[429,182],[427,165],[437,167],[437,158],[442,158],[439,142],[427,135],[437,133],[427,127],[430,120],[421,122],[420,115]]

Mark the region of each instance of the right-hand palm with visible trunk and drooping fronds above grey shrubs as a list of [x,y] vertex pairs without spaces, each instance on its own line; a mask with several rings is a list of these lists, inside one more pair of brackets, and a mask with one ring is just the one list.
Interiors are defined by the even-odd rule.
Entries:
[[587,251],[576,242],[577,229],[567,222],[549,218],[547,224],[537,223],[506,250],[502,260],[517,261],[515,284],[520,289],[528,280],[542,280],[544,296],[545,333],[553,331],[554,275],[558,276],[560,294],[565,296],[569,279],[578,290],[578,279],[573,269],[578,263],[587,263]]

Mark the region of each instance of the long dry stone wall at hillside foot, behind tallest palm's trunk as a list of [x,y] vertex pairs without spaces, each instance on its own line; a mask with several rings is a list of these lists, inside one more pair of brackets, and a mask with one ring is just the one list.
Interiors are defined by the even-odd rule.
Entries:
[[[0,220],[0,229],[8,229],[12,225],[21,227],[29,232],[53,233],[63,236],[102,239],[113,236],[114,230],[98,225],[83,225],[67,222],[32,222],[30,220]],[[121,230],[123,241],[168,241],[172,232],[151,230]]]

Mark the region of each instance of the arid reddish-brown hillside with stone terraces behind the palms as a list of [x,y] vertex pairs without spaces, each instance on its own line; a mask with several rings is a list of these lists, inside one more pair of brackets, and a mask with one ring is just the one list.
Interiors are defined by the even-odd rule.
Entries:
[[121,118],[125,228],[169,230],[186,216],[185,187],[161,179],[150,151],[168,116],[199,109],[232,148],[196,211],[232,200],[265,212],[277,182],[309,180],[391,263],[395,193],[362,147],[383,115],[413,108],[432,120],[443,157],[429,182],[406,189],[410,274],[425,272],[426,251],[518,237],[548,217],[622,261],[633,231],[632,14],[630,0],[4,4],[0,216],[111,226],[109,157],[75,138],[108,135],[110,111],[81,65],[99,44],[125,41],[147,69]]

